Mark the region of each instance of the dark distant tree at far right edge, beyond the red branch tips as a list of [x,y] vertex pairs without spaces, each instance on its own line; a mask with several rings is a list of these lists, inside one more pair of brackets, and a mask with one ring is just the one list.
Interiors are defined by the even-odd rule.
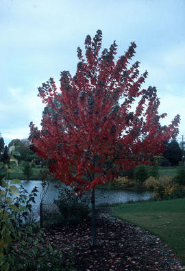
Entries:
[[171,166],[177,166],[182,159],[182,149],[180,149],[180,146],[175,139],[168,142],[166,146],[167,149],[163,154],[164,158],[169,161]]

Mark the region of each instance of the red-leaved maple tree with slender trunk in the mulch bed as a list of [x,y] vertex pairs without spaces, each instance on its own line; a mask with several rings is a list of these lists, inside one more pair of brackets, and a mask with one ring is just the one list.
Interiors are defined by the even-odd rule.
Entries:
[[93,216],[95,186],[162,153],[180,122],[177,115],[168,127],[160,125],[167,114],[158,114],[156,88],[141,89],[147,71],[139,75],[139,62],[130,64],[135,42],[115,60],[115,41],[100,55],[101,39],[101,30],[93,40],[86,37],[86,57],[77,48],[77,72],[61,73],[60,90],[53,78],[38,88],[46,104],[42,129],[31,122],[29,136],[37,155],[49,159],[50,172],[76,191],[93,191]]

